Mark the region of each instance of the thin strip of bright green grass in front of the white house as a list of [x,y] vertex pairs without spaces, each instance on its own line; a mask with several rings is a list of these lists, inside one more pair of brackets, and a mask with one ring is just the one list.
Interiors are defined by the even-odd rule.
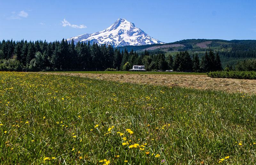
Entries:
[[129,72],[129,71],[68,71],[68,72],[50,72],[50,73],[97,73],[97,74],[154,74],[154,75],[206,75],[206,73],[194,72]]

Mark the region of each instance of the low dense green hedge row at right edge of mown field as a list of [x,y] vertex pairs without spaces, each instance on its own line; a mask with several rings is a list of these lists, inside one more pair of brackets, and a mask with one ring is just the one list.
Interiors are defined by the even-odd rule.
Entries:
[[217,71],[207,73],[212,78],[256,79],[254,71]]

